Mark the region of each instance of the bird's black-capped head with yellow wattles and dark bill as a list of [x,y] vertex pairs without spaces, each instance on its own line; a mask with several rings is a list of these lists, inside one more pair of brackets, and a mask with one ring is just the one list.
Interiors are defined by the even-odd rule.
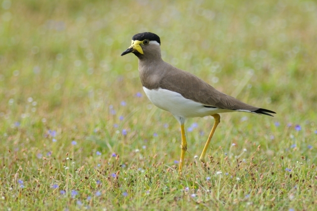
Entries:
[[139,58],[150,54],[159,54],[160,56],[159,36],[151,32],[143,32],[132,37],[132,45],[121,55],[134,53]]

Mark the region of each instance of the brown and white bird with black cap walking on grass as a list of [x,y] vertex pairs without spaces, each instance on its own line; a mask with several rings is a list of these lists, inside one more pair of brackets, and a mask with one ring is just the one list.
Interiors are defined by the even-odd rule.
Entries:
[[179,122],[181,157],[178,172],[180,174],[187,151],[184,124],[188,118],[209,115],[214,118],[210,135],[199,158],[202,164],[206,164],[206,152],[220,123],[219,113],[244,111],[268,116],[273,116],[270,113],[275,113],[243,103],[216,90],[194,74],[163,61],[160,44],[158,35],[151,32],[139,33],[132,37],[131,46],[121,56],[133,53],[138,57],[140,79],[146,96],[155,106],[169,111]]

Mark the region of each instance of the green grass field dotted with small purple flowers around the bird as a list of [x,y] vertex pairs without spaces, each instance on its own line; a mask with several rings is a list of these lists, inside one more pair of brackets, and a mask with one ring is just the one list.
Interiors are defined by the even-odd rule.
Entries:
[[[314,1],[2,0],[0,210],[314,210]],[[163,59],[275,117],[221,114],[180,129],[145,96],[137,58]]]

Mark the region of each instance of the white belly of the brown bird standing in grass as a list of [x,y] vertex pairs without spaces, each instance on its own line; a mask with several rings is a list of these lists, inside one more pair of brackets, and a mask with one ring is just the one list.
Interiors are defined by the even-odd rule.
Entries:
[[174,116],[203,117],[215,113],[230,112],[230,110],[204,107],[201,103],[186,99],[181,94],[166,89],[150,90],[143,87],[143,90],[155,106],[171,112]]

